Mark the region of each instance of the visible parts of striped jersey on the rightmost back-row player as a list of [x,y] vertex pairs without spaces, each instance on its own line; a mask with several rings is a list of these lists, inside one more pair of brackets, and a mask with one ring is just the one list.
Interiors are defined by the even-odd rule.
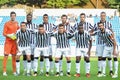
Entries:
[[[110,22],[105,21],[104,26],[106,29],[112,29],[112,25]],[[94,25],[94,31],[98,30],[98,23]],[[103,40],[99,36],[96,36],[96,45],[104,45]]]

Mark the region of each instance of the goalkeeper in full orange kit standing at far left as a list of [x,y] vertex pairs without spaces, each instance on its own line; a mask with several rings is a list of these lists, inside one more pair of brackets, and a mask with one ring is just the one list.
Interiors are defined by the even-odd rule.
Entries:
[[5,23],[3,35],[6,37],[4,44],[4,58],[3,58],[3,76],[7,76],[6,64],[9,54],[12,55],[12,68],[13,75],[16,75],[16,53],[17,53],[17,45],[16,45],[16,31],[19,29],[18,22],[15,21],[16,13],[10,13],[10,20]]

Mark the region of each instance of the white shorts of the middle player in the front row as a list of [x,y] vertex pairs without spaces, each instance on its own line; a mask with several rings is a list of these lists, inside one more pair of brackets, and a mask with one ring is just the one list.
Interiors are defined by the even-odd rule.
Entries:
[[55,57],[60,58],[61,55],[64,55],[65,57],[71,57],[70,49],[69,48],[57,48]]

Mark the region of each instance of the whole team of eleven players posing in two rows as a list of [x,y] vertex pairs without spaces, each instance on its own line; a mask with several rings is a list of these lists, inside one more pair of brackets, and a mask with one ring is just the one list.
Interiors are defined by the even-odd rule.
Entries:
[[[97,77],[106,76],[106,59],[108,59],[109,75],[118,77],[118,50],[114,32],[110,22],[106,21],[106,13],[101,12],[101,20],[93,25],[86,22],[85,13],[80,14],[80,22],[71,26],[67,22],[67,15],[61,16],[61,23],[55,25],[49,22],[48,14],[43,15],[42,24],[32,22],[32,14],[27,14],[27,22],[21,22],[20,27],[15,21],[16,13],[10,13],[11,20],[4,25],[3,35],[6,37],[4,44],[3,76],[7,76],[6,64],[9,54],[12,55],[13,75],[20,76],[20,57],[23,55],[23,75],[38,76],[44,74],[44,61],[46,77],[50,73],[55,76],[63,76],[62,59],[66,58],[66,76],[71,77],[71,53],[70,40],[75,41],[75,77],[80,77],[80,62],[84,56],[85,75],[90,75],[90,55],[92,48],[92,36],[96,36],[96,56],[98,58]],[[55,61],[53,61],[53,48],[51,37],[56,39]],[[64,55],[64,56],[63,56]],[[38,60],[40,58],[40,61]],[[114,69],[113,62],[114,61]],[[40,72],[38,71],[40,62]],[[55,71],[54,71],[55,68]]]

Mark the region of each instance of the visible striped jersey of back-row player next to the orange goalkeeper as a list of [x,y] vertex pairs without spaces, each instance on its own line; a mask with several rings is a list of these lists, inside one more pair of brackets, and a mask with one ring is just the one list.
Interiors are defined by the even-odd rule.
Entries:
[[30,43],[31,44],[35,44],[35,30],[38,29],[38,25],[34,24],[34,23],[27,23],[26,24],[27,29],[30,29],[31,31],[33,31],[32,35],[31,35],[31,39],[30,39]]

